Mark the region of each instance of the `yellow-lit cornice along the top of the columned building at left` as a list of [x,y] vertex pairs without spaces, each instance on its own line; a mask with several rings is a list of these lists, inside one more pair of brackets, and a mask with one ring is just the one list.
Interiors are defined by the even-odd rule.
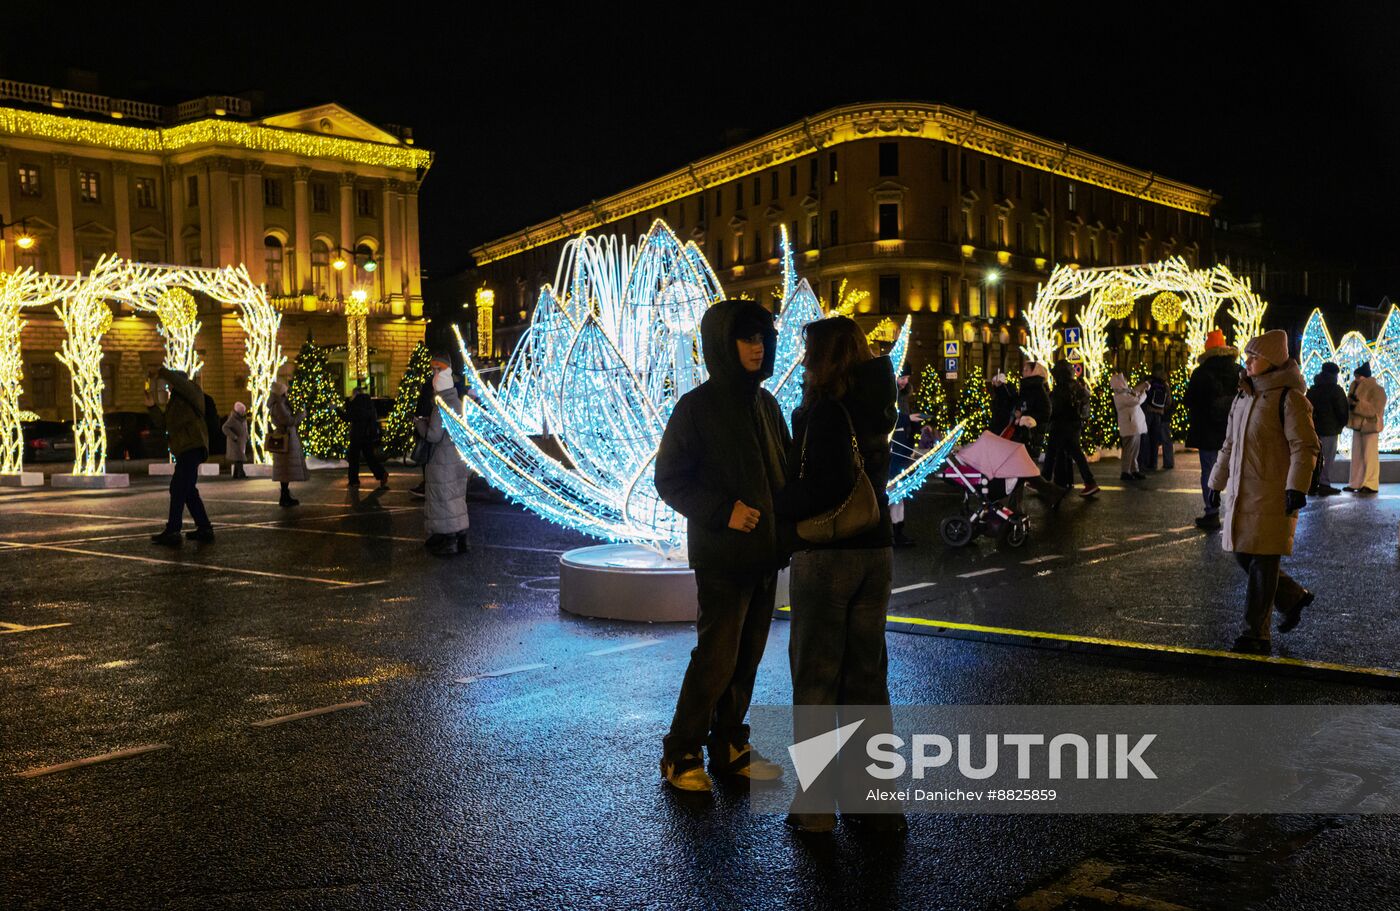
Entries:
[[168,127],[122,126],[38,111],[0,108],[0,136],[49,140],[127,153],[171,154],[202,146],[286,153],[405,171],[427,169],[433,153],[409,146],[318,136],[258,123],[206,118]]

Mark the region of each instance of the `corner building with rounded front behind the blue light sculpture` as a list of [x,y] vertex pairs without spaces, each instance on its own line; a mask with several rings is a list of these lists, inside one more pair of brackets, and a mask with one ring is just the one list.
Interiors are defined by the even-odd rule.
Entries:
[[[578,162],[580,167],[587,162]],[[725,291],[774,305],[778,231],[829,304],[841,281],[868,294],[857,319],[914,318],[910,364],[960,343],[962,362],[1019,364],[1016,318],[1057,264],[1182,256],[1212,264],[1218,197],[1161,175],[927,104],[858,104],[728,148],[473,250],[494,292],[496,347],[508,350],[581,231],[640,236],[655,218],[696,241]],[[1110,344],[1134,362],[1184,357],[1149,301]],[[496,354],[500,354],[497,351]]]

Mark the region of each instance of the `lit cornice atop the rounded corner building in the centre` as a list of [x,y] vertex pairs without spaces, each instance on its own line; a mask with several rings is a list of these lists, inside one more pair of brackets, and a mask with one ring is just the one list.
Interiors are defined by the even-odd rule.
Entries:
[[[841,143],[867,139],[925,139],[1047,171],[1126,196],[1207,216],[1219,196],[1158,174],[1109,161],[1064,143],[987,120],[970,111],[918,102],[833,108],[671,174],[524,228],[472,250],[477,266],[561,241]],[[606,220],[606,221],[605,221]]]

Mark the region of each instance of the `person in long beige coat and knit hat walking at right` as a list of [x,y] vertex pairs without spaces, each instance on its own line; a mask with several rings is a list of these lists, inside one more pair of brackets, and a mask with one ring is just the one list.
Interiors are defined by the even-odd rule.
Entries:
[[1313,593],[1280,568],[1280,558],[1294,553],[1294,528],[1320,445],[1308,383],[1288,357],[1288,333],[1274,329],[1252,339],[1245,372],[1210,486],[1221,494],[1221,547],[1249,574],[1246,628],[1235,651],[1268,655],[1274,609],[1282,614],[1278,631],[1288,633],[1313,602]]

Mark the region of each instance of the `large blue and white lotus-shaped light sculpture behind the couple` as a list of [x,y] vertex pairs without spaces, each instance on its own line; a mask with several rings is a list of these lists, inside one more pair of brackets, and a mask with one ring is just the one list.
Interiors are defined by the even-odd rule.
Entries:
[[[493,487],[532,512],[683,558],[685,519],[654,484],[657,448],[676,402],[706,379],[700,318],[721,299],[700,248],[682,243],[662,221],[636,246],[587,235],[570,241],[497,388],[482,381],[458,334],[476,399],[461,414],[441,409],[452,442]],[[822,318],[811,285],[797,277],[784,231],[777,351],[764,385],[788,420],[802,396],[802,327]],[[900,361],[909,332],[906,320],[895,346]],[[917,490],[958,435],[896,477],[890,498]]]

